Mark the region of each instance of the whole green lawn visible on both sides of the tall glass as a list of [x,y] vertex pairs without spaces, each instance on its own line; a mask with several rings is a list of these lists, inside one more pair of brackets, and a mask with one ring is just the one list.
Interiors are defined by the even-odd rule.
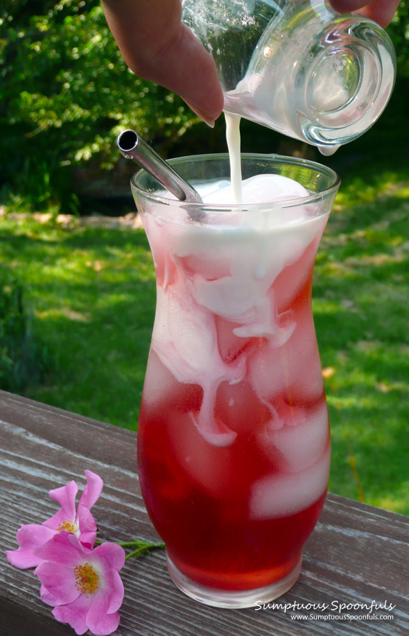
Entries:
[[[409,514],[409,178],[346,175],[322,239],[313,310],[331,416],[330,489]],[[155,311],[142,230],[1,220],[53,354],[26,395],[134,429]]]

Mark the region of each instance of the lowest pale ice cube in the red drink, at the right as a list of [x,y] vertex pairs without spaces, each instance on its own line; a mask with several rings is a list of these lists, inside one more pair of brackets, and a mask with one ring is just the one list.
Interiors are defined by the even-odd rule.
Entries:
[[317,463],[306,470],[256,481],[249,502],[250,518],[276,519],[311,506],[327,488],[330,460],[328,445]]

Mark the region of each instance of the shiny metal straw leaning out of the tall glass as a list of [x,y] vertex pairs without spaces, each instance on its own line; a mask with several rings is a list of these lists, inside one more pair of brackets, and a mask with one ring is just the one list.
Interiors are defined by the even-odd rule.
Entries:
[[[195,189],[186,182],[169,166],[166,161],[146,144],[134,130],[125,130],[118,137],[118,148],[126,159],[133,159],[142,168],[152,175],[166,190],[171,192],[180,201],[186,203],[203,203],[202,198]],[[199,220],[202,214],[199,211],[188,211],[191,218]]]

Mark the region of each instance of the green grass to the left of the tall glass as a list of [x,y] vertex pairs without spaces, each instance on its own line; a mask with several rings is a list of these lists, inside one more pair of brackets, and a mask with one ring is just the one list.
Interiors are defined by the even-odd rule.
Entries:
[[155,311],[142,230],[1,221],[0,258],[26,284],[55,369],[28,397],[136,429]]

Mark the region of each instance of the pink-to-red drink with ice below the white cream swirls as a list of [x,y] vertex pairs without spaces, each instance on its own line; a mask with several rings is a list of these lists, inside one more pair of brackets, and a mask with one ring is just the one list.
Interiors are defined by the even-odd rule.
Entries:
[[[216,390],[214,422],[232,442],[209,443],[198,425],[202,386],[177,381],[150,351],[138,431],[142,495],[171,560],[202,585],[251,590],[284,578],[324,505],[329,423],[311,313],[317,242],[267,293],[280,328],[292,325],[284,343],[238,337],[237,323],[213,316],[220,358],[246,361],[241,381]],[[156,262],[160,286],[164,258]],[[172,264],[166,293],[193,265]]]

